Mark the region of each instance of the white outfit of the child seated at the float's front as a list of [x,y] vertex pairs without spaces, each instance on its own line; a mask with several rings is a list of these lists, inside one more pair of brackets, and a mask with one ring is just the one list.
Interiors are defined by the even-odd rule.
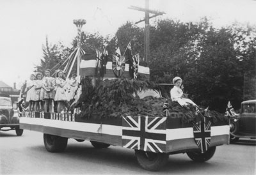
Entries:
[[188,103],[196,106],[196,103],[194,103],[192,100],[182,97],[183,91],[177,86],[173,86],[173,88],[170,91],[170,94],[171,94],[172,102],[178,102],[182,106],[186,106],[188,105]]

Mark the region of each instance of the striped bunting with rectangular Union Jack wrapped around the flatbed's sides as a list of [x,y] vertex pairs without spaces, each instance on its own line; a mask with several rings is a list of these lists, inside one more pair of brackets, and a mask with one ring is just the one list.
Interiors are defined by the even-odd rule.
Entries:
[[[112,118],[90,120],[69,114],[26,111],[20,118],[20,128],[158,153],[198,149],[192,125],[182,125],[180,118],[127,116],[121,122]],[[228,139],[228,123],[211,126],[210,147],[228,144]]]

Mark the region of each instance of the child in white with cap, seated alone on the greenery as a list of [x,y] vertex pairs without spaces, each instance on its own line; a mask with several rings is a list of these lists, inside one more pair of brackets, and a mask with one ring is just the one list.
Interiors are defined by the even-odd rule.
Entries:
[[183,98],[183,91],[180,89],[180,86],[182,85],[182,79],[180,77],[175,77],[172,80],[174,86],[170,91],[172,102],[178,102],[181,106],[188,106],[188,104],[192,104],[197,107],[196,103],[194,103],[192,100],[188,98]]

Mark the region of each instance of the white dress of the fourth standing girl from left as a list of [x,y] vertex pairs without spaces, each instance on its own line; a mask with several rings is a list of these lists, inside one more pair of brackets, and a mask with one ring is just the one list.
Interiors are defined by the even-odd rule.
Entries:
[[67,101],[67,94],[65,93],[65,87],[64,87],[66,84],[66,81],[57,77],[55,83],[56,83],[56,94],[54,97],[54,101]]

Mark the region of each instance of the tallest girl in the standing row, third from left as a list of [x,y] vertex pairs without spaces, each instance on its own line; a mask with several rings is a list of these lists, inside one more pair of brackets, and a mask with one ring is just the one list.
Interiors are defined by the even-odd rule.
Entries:
[[55,96],[54,86],[55,79],[51,77],[51,70],[47,69],[44,72],[42,99],[44,100],[44,112],[52,112],[52,100]]

